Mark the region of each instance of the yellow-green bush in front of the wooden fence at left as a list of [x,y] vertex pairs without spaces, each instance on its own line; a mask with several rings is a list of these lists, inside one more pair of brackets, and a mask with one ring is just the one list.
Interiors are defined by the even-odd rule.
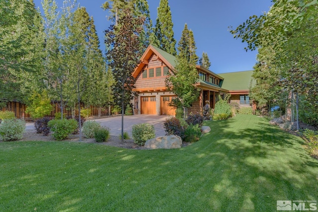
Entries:
[[49,98],[47,91],[43,90],[40,93],[33,93],[29,97],[28,107],[25,112],[29,113],[32,118],[42,118],[51,114],[53,106],[51,105],[51,99]]

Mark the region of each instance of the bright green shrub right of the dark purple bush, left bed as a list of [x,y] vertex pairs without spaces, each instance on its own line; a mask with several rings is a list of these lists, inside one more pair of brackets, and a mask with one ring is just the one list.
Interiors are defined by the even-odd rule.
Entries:
[[53,131],[54,139],[61,141],[68,138],[78,127],[78,123],[75,119],[52,119],[49,121],[48,126]]

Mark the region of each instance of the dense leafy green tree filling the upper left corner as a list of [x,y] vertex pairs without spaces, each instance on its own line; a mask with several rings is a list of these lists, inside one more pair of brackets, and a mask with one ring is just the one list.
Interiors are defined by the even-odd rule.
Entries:
[[27,98],[28,91],[41,82],[29,80],[41,76],[44,34],[33,1],[5,0],[0,8],[0,105],[4,106]]

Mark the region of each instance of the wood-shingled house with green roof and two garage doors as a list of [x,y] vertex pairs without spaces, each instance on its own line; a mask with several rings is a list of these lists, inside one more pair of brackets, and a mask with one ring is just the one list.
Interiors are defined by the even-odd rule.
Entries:
[[[165,85],[168,72],[175,67],[175,59],[174,56],[152,45],[146,49],[141,57],[141,63],[133,72],[136,79],[133,89],[136,96],[132,102],[134,114],[175,115],[175,109],[168,103],[176,98],[176,95]],[[198,70],[196,86],[201,91],[198,100],[188,108],[188,113],[202,111],[206,100],[209,100],[210,107],[214,108],[219,95],[224,97],[227,93],[233,94],[231,101],[237,101],[237,98],[241,98],[242,95],[244,102],[239,101],[239,103],[249,106],[248,87],[252,71],[241,71],[232,75],[232,73],[216,74],[200,65],[197,65],[196,68]],[[237,75],[241,76],[236,78]],[[241,78],[244,80],[236,82],[236,79]]]

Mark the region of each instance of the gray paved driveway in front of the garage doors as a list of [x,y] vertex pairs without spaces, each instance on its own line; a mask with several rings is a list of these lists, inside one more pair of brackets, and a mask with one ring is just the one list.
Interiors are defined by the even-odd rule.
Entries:
[[[163,128],[163,121],[170,116],[157,116],[157,115],[133,115],[124,116],[124,132],[132,136],[132,126],[140,123],[149,123],[155,127],[156,137],[164,136],[165,131]],[[111,136],[121,135],[121,116],[107,117],[101,119],[94,119],[100,123],[101,126],[110,129]],[[26,123],[26,130],[34,130],[34,123]]]

